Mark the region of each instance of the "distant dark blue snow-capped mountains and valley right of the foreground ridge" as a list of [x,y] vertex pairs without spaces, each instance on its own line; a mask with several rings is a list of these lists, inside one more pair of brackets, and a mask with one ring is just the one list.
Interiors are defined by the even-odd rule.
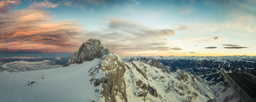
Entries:
[[134,60],[156,59],[170,71],[180,69],[191,72],[210,85],[217,83],[225,86],[222,83],[225,78],[221,76],[220,68],[237,67],[256,74],[256,56],[123,56],[121,58],[128,63]]

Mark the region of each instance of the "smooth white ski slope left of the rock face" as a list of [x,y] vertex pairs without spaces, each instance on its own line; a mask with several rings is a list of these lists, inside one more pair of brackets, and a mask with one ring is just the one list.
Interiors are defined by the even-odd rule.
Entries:
[[[98,62],[95,59],[56,69],[0,73],[0,102],[91,102],[99,97],[94,90],[101,86],[90,84],[88,72]],[[36,82],[27,86],[28,81]]]

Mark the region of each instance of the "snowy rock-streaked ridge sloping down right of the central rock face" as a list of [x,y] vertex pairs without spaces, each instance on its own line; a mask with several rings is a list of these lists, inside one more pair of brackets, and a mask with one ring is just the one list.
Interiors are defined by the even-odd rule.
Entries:
[[126,67],[124,78],[131,102],[205,102],[215,97],[204,83],[182,70],[168,74],[139,60],[126,63]]

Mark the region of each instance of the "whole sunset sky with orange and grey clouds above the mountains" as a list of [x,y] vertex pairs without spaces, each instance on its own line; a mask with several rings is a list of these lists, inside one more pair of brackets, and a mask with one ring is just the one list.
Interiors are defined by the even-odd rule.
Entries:
[[256,0],[2,0],[0,57],[256,56]]

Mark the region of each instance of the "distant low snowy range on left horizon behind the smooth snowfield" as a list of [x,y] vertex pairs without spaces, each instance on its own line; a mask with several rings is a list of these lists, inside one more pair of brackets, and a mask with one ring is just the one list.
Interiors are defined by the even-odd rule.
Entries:
[[62,67],[67,58],[11,57],[0,58],[0,72],[25,72]]

